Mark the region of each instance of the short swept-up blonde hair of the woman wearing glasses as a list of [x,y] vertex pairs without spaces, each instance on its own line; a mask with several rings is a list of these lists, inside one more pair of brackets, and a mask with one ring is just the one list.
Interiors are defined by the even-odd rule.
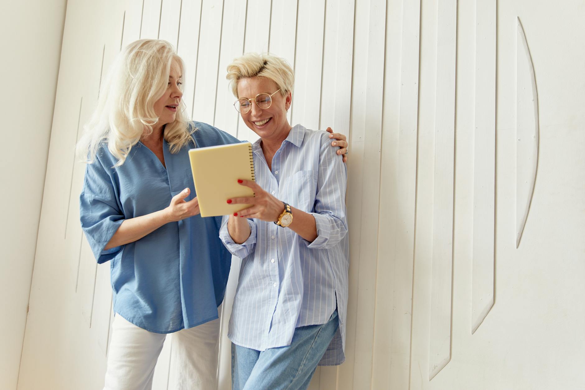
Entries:
[[225,78],[230,81],[232,92],[238,96],[238,81],[246,77],[266,77],[274,81],[280,88],[281,95],[292,93],[294,85],[294,71],[287,60],[263,53],[246,53],[237,57],[228,65],[228,74]]

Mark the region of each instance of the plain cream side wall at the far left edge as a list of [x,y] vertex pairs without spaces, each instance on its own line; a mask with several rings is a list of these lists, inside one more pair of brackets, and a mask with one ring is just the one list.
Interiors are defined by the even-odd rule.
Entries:
[[0,389],[18,383],[66,6],[2,3]]

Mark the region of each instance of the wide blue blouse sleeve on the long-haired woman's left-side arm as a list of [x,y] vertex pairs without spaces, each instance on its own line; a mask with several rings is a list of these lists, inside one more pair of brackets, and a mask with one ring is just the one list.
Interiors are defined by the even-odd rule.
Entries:
[[108,173],[98,159],[85,168],[80,195],[81,228],[98,264],[113,259],[123,248],[104,250],[125,217]]

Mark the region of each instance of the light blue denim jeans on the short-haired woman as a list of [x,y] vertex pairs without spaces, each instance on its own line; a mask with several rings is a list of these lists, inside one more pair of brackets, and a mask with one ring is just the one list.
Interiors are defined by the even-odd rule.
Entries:
[[339,327],[337,310],[326,324],[295,329],[291,345],[257,351],[232,343],[232,390],[304,390]]

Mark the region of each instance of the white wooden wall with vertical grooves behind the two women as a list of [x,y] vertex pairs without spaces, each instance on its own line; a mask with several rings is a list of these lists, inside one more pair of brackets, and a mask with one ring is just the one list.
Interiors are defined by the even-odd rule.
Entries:
[[[113,56],[145,37],[178,47],[192,118],[254,141],[225,69],[270,51],[294,66],[291,124],[350,142],[347,359],[311,389],[583,388],[583,16],[581,0],[69,0],[18,388],[103,385],[109,266],[79,227],[73,146]],[[156,390],[172,364],[167,341]]]

